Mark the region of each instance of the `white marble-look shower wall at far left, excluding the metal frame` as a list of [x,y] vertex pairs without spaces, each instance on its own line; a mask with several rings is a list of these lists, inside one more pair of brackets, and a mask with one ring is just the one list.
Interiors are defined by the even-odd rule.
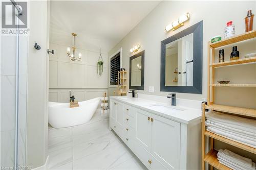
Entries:
[[16,37],[1,35],[1,167],[15,166]]

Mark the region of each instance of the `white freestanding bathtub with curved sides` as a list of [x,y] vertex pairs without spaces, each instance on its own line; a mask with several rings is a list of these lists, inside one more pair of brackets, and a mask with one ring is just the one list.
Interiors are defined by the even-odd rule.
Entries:
[[78,102],[79,107],[69,107],[69,103],[49,102],[49,124],[53,128],[65,128],[87,123],[91,120],[100,98]]

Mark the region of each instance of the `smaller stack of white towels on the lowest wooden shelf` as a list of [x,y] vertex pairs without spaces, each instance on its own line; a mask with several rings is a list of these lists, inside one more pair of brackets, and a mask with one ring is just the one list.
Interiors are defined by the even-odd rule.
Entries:
[[228,150],[220,149],[218,160],[221,164],[235,170],[255,170],[255,163],[251,159],[245,158]]

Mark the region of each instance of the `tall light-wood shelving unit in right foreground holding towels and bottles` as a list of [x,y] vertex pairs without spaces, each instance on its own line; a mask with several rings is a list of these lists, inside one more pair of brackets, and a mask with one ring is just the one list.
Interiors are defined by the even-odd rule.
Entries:
[[[233,61],[225,61],[221,63],[214,63],[215,57],[215,48],[219,48],[225,45],[229,45],[232,43],[248,40],[256,37],[256,31],[250,31],[238,36],[233,36],[215,43],[208,42],[208,91],[207,91],[207,102],[209,105],[203,104],[203,114],[202,114],[202,170],[205,168],[205,162],[208,163],[212,167],[217,169],[230,169],[227,166],[219,163],[217,159],[218,151],[214,150],[214,140],[219,140],[225,142],[227,144],[233,145],[234,147],[243,149],[245,151],[256,154],[256,149],[249,147],[246,144],[242,144],[240,142],[222,137],[220,135],[211,133],[206,131],[205,127],[205,108],[215,111],[220,111],[227,114],[236,114],[238,116],[245,116],[247,118],[256,118],[256,109],[251,108],[242,108],[242,107],[234,107],[234,106],[226,106],[226,105],[218,105],[215,104],[215,90],[216,87],[256,87],[256,84],[214,84],[215,82],[215,69],[223,66],[230,65],[238,65],[238,64],[251,64],[256,62],[256,57],[244,58]],[[210,151],[205,154],[205,136],[209,137],[210,142]]]

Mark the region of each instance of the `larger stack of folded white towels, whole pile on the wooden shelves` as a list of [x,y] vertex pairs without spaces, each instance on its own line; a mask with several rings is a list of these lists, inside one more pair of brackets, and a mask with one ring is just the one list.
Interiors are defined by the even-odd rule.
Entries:
[[256,148],[256,120],[216,111],[206,112],[205,116],[207,131]]

